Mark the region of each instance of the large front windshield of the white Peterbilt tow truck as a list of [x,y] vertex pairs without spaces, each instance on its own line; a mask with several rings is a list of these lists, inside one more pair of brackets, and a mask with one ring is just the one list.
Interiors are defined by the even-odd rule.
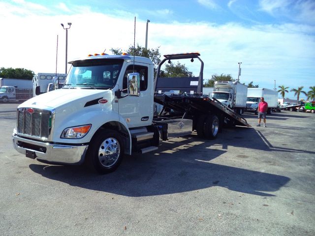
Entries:
[[63,88],[111,89],[116,85],[123,63],[123,59],[74,61]]

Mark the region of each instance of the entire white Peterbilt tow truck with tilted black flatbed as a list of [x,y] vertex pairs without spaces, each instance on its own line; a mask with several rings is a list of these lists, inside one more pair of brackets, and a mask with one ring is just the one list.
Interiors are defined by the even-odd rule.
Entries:
[[[13,146],[26,157],[48,163],[86,162],[105,174],[119,166],[124,154],[156,150],[162,141],[192,131],[214,139],[226,121],[249,127],[246,119],[202,94],[199,56],[165,55],[155,80],[148,58],[101,55],[70,61],[62,89],[17,108]],[[199,77],[160,77],[165,61],[179,59],[198,59]],[[157,116],[154,102],[163,106]]]

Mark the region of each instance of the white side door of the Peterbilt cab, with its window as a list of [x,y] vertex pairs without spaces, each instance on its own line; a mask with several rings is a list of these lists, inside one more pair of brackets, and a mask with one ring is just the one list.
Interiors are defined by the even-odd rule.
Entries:
[[[119,114],[125,119],[129,128],[150,125],[153,118],[153,71],[149,64],[128,63],[120,89],[127,89],[127,75],[129,73],[140,74],[140,94],[128,95],[118,99]],[[124,96],[127,91],[122,92]]]

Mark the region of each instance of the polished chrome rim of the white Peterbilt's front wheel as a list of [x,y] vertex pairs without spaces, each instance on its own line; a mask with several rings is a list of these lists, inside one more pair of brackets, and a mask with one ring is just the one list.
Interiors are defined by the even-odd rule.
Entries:
[[98,160],[104,167],[115,165],[120,155],[120,145],[117,139],[105,139],[98,149]]

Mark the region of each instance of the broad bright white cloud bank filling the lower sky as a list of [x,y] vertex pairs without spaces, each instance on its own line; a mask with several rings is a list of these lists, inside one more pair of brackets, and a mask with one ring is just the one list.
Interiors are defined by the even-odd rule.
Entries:
[[[54,72],[56,41],[59,35],[58,72],[64,72],[65,30],[60,23],[71,22],[68,30],[68,60],[102,53],[111,48],[127,49],[133,44],[134,14],[124,17],[96,13],[88,7],[71,8],[71,15],[38,15],[35,11],[21,15],[23,9],[1,3],[0,66],[22,67],[38,72]],[[2,8],[4,9],[4,8]],[[32,13],[32,14],[31,14]],[[136,43],[145,44],[146,20],[137,18]],[[149,24],[148,47],[161,55],[199,51],[205,63],[204,79],[214,73],[237,78],[238,62],[242,63],[242,83],[254,81],[260,87],[273,88],[284,84],[296,87],[296,80],[305,88],[314,86],[315,29],[310,26],[257,25],[247,28],[238,24],[218,26],[209,23]],[[196,60],[195,60],[196,61]],[[197,62],[197,61],[196,61]],[[194,74],[199,64],[186,62]],[[305,84],[303,84],[305,83]]]

